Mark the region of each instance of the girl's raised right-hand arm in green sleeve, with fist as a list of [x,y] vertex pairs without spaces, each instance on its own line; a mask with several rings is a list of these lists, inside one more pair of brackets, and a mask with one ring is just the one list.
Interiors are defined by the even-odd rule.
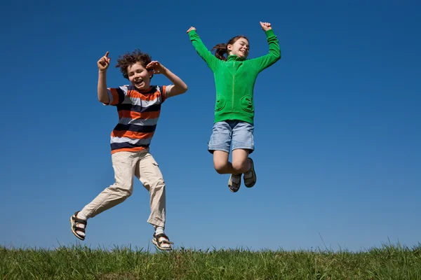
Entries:
[[255,65],[255,68],[259,72],[281,59],[281,48],[279,48],[279,41],[274,34],[270,23],[260,22],[260,26],[262,27],[263,31],[265,31],[267,43],[269,43],[269,53],[261,57],[250,59],[250,61],[253,62],[253,65]]

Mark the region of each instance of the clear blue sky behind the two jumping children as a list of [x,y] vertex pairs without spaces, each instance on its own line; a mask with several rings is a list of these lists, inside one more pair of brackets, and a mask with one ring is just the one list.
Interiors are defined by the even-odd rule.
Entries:
[[[199,3],[199,2],[197,2]],[[218,2],[219,3],[219,2]],[[416,1],[8,1],[1,4],[0,244],[76,244],[69,216],[114,183],[115,108],[98,102],[97,60],[140,48],[189,86],[163,105],[151,153],[167,184],[166,233],[186,248],[413,246],[421,226],[421,4]],[[208,48],[250,39],[282,59],[255,85],[258,183],[227,188],[207,142],[215,86],[186,30]],[[154,83],[167,84],[163,76]],[[83,244],[152,247],[149,194],[88,221]],[[323,239],[323,240],[322,240]],[[324,244],[323,244],[324,241]]]

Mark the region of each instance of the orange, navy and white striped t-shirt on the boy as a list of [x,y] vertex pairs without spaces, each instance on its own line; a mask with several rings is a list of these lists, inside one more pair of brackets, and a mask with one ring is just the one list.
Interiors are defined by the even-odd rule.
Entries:
[[108,88],[109,104],[117,107],[119,123],[111,134],[111,153],[149,148],[158,123],[161,104],[170,86],[151,85],[140,92],[133,85]]

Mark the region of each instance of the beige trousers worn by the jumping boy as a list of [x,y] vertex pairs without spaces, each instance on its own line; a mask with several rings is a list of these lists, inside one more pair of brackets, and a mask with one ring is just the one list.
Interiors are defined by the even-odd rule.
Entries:
[[116,182],[102,191],[82,209],[87,218],[123,202],[133,193],[133,175],[140,179],[149,191],[151,214],[148,223],[165,226],[165,182],[159,166],[149,150],[139,152],[117,152],[112,154],[112,167]]

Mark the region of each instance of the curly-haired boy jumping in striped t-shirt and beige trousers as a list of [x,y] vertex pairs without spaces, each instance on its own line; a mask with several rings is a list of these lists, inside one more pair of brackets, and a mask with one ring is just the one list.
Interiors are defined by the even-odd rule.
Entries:
[[[70,217],[73,234],[85,239],[88,218],[123,202],[133,192],[133,175],[149,191],[151,214],[148,223],[155,228],[154,243],[161,250],[171,250],[171,242],[164,233],[165,183],[159,166],[149,153],[161,104],[187,91],[187,85],[165,66],[140,50],[119,57],[116,67],[131,85],[107,88],[106,74],[110,58],[108,52],[98,60],[98,100],[105,105],[116,106],[119,123],[111,134],[112,165],[115,183],[100,193]],[[162,73],[172,85],[150,85],[154,73]]]

